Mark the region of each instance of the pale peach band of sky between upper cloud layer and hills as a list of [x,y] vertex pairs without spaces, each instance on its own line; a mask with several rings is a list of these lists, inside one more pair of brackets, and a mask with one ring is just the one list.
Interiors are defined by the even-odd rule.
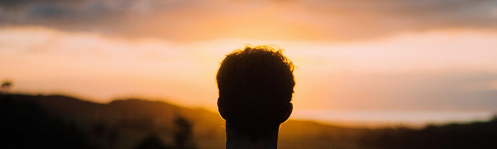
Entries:
[[[16,80],[14,90],[75,93],[101,102],[138,96],[215,109],[211,101],[217,98],[214,78],[219,62],[243,44],[285,49],[298,67],[293,100],[297,109],[429,109],[437,104],[430,101],[435,98],[457,101],[436,105],[442,109],[491,109],[463,97],[487,100],[474,92],[496,91],[491,84],[497,80],[497,51],[492,50],[497,34],[480,31],[440,30],[346,43],[172,43],[39,27],[5,28],[0,37],[0,58],[5,62],[0,66],[8,70],[0,77]],[[463,97],[443,95],[456,92]]]

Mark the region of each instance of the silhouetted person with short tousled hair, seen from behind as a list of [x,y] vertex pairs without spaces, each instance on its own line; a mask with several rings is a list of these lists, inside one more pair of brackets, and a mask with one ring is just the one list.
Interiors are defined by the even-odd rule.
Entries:
[[226,56],[217,73],[226,149],[276,149],[292,113],[293,64],[279,48],[247,46]]

